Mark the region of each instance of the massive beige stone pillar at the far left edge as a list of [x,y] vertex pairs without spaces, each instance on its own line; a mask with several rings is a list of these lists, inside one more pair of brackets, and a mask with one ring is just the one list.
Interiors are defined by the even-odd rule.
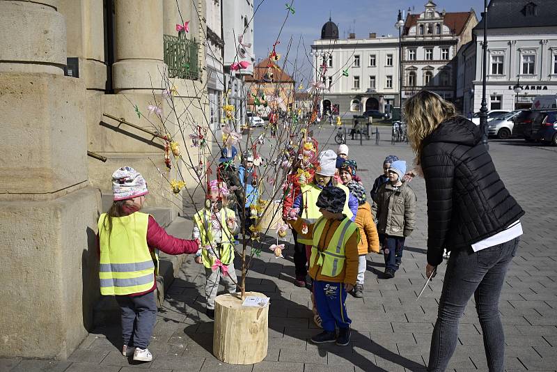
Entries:
[[99,293],[85,85],[63,76],[58,5],[0,2],[0,357],[68,357]]

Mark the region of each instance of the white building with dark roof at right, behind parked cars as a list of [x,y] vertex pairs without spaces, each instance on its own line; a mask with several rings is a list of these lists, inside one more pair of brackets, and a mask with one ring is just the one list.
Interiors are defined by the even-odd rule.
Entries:
[[[557,1],[492,0],[487,15],[487,109],[529,108],[535,96],[557,94]],[[458,55],[466,116],[482,101],[483,21],[473,34]]]

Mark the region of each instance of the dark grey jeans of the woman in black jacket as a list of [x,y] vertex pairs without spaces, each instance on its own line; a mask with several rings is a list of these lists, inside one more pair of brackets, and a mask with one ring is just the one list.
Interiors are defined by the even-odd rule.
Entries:
[[499,297],[518,242],[519,238],[515,238],[478,252],[471,247],[450,251],[427,371],[446,370],[457,346],[460,317],[472,295],[482,327],[487,367],[491,372],[503,371],[505,334],[499,318]]

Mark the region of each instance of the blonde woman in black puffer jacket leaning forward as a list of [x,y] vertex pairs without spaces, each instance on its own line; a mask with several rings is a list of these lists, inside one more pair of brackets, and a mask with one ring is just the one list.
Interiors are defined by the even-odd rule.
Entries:
[[451,252],[427,371],[445,371],[472,295],[489,371],[503,371],[499,297],[524,211],[499,178],[479,128],[457,116],[453,104],[421,91],[405,102],[404,111],[427,191],[427,277],[443,261],[444,249]]

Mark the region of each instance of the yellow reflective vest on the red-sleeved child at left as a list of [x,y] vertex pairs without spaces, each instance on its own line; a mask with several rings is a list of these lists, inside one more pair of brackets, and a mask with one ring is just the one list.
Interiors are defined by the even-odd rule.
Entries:
[[102,295],[130,295],[150,290],[155,285],[159,257],[147,245],[149,215],[134,212],[123,217],[112,217],[109,233],[106,213],[100,215],[100,293]]

